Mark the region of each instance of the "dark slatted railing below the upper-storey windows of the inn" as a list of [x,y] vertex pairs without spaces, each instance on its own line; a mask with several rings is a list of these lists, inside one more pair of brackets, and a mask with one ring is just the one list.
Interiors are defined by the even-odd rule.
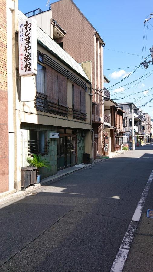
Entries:
[[47,100],[47,95],[42,93],[38,93],[38,96],[35,97],[35,108],[41,112],[48,112],[65,117],[72,115],[74,119],[83,121],[87,119],[87,114],[53,103]]

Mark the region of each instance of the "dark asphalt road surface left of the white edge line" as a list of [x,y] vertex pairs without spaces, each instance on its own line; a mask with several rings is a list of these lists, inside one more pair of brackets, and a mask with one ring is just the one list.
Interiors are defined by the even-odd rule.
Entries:
[[153,144],[0,204],[0,271],[109,272],[153,169]]

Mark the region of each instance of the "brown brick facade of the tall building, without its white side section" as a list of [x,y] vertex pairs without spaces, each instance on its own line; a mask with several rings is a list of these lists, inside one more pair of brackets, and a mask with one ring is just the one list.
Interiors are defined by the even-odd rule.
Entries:
[[[103,46],[105,43],[72,0],[51,4],[52,18],[66,31],[56,38],[78,63],[92,62],[92,121],[97,153],[102,155],[103,146]],[[60,12],[59,12],[60,11]],[[107,79],[104,81],[107,82]],[[100,94],[100,95],[99,95]]]

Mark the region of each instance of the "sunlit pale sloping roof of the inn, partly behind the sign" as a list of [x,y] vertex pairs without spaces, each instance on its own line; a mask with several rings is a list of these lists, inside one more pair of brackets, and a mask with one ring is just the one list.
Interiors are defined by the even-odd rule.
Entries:
[[[28,17],[25,16],[21,11],[18,13],[19,20],[26,20]],[[62,47],[60,47],[50,36],[48,36],[41,28],[37,26],[37,40],[48,47],[54,54],[63,60],[68,66],[80,74],[84,79],[90,82],[86,73],[82,69],[81,65],[77,63]]]

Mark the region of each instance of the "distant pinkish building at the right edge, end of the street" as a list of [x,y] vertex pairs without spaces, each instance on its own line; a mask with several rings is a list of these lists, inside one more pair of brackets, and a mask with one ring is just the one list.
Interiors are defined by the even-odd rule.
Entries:
[[[152,141],[152,126],[151,126],[151,117],[148,113],[143,113],[145,120],[142,123],[143,134],[146,134],[146,142],[150,143]],[[146,125],[146,131],[145,131]]]

